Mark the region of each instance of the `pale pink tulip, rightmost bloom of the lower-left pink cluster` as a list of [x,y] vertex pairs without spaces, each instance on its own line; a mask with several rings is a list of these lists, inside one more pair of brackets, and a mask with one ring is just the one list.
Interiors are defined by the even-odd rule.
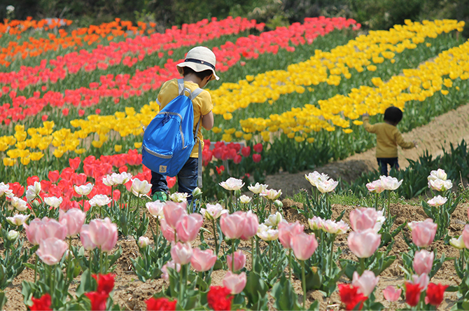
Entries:
[[116,223],[111,223],[111,219],[93,219],[88,227],[91,242],[102,251],[111,251],[117,243],[118,231]]

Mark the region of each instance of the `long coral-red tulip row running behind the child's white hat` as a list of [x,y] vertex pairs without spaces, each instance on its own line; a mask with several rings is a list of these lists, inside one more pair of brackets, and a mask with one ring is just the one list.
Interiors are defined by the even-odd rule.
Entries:
[[[279,48],[294,51],[294,46],[297,44],[311,44],[317,36],[324,36],[334,29],[344,29],[345,27],[356,29],[360,25],[356,25],[353,20],[343,18],[311,18],[305,20],[302,25],[294,24],[288,28],[282,27],[272,32],[264,32],[260,36],[241,37],[237,39],[236,43],[227,42],[220,48],[213,49],[218,60],[217,71],[227,71],[240,62],[241,57],[246,59],[256,58],[264,53],[277,53]],[[89,57],[83,58],[83,62],[88,60]],[[98,104],[100,100],[106,97],[113,98],[117,104],[121,98],[128,99],[129,97],[141,96],[143,92],[157,90],[165,81],[179,77],[175,64],[181,61],[174,62],[174,60],[169,59],[164,68],[155,66],[144,71],[137,70],[134,76],[129,74],[118,74],[116,76],[106,74],[99,78],[99,83],[90,83],[89,88],[82,87],[75,90],[64,90],[64,92],[45,92],[47,88],[43,85],[42,90],[45,93],[42,97],[41,92],[38,91],[34,92],[34,96],[29,98],[22,95],[18,96],[15,90],[3,86],[3,92],[8,93],[12,102],[0,106],[0,123],[3,122],[8,125],[11,121],[16,122],[24,120],[28,116],[38,116],[45,106],[62,107],[71,104],[76,107],[88,107]],[[107,68],[107,64],[105,67]],[[105,68],[103,67],[103,69]],[[46,71],[41,71],[41,74]],[[20,76],[18,74],[18,77]],[[62,71],[61,76],[56,74],[54,76],[56,82],[59,78],[65,78],[66,71]],[[34,80],[38,81],[40,79],[36,74],[34,74],[34,77]],[[22,81],[27,81],[27,79]]]

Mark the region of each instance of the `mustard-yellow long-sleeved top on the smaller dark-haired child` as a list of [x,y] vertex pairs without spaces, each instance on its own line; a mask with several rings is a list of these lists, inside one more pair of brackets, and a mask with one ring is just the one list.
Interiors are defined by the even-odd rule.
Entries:
[[397,127],[388,123],[376,123],[371,125],[370,118],[363,117],[365,130],[376,134],[376,157],[377,158],[397,158],[398,145],[409,149],[414,147],[412,141],[405,141]]

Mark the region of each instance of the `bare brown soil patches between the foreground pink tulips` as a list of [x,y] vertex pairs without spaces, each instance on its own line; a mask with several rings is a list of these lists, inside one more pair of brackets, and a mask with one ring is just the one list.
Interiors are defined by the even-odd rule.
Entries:
[[[308,228],[307,219],[300,214],[297,214],[297,207],[302,208],[302,204],[298,202],[294,202],[293,200],[286,199],[283,200],[283,213],[286,219],[289,222],[293,221],[300,221],[300,223],[305,225],[305,228]],[[454,212],[451,218],[451,225],[449,226],[449,235],[460,235],[463,227],[467,221],[467,213],[468,213],[469,203],[464,202],[458,205],[456,211]],[[344,206],[344,205],[332,205],[332,218],[339,216],[339,214],[345,210],[343,220],[348,223],[349,215],[351,210],[355,209],[355,206]],[[423,221],[426,219],[426,215],[423,213],[423,209],[420,206],[414,205],[402,205],[392,204],[391,205],[391,214],[399,215],[395,221],[394,226],[398,226],[405,221]],[[151,218],[150,226],[155,230],[156,223],[155,219]],[[212,232],[212,226],[209,222],[204,222],[204,228]],[[150,232],[150,230],[148,230]],[[404,228],[403,230],[407,235],[408,230]],[[147,233],[148,237],[151,238],[150,234]],[[209,242],[211,246],[213,246],[213,239],[211,235],[205,235],[206,241]],[[73,240],[73,244],[78,244],[78,239],[76,238]],[[193,243],[193,246],[197,246],[200,241],[196,240]],[[153,279],[148,280],[146,283],[140,282],[137,278],[137,275],[132,272],[132,263],[130,258],[137,258],[139,255],[139,251],[137,245],[135,244],[134,240],[119,240],[118,246],[123,248],[123,255],[117,262],[115,273],[116,277],[116,285],[114,287],[113,298],[116,303],[120,305],[121,308],[126,310],[146,310],[145,300],[149,297],[153,296],[154,293],[161,291],[163,287],[167,288],[169,285],[163,279]],[[262,246],[261,247],[265,247]],[[347,258],[356,261],[357,258],[351,253],[349,248],[347,247],[346,242],[346,235],[339,235],[335,242],[335,247],[340,247],[342,249],[342,258]],[[213,247],[212,247],[213,248]],[[239,245],[239,249],[246,251],[246,257],[248,258],[246,263],[246,268],[251,270],[251,256],[247,253],[250,249],[250,245],[246,242],[241,242]],[[458,256],[458,251],[452,248],[449,245],[445,245],[442,241],[433,242],[433,244],[429,247],[429,250],[437,249],[437,256],[441,256],[442,253],[445,254],[447,257],[455,257]],[[382,290],[386,288],[388,285],[393,286],[402,286],[404,284],[404,275],[402,270],[400,270],[400,265],[402,261],[400,259],[400,254],[406,252],[408,250],[407,244],[405,244],[402,233],[395,237],[395,244],[393,249],[391,250],[390,255],[397,256],[395,262],[389,267],[388,269],[384,270],[379,276],[379,283],[377,285],[377,289],[374,291],[374,294],[377,298],[377,301],[383,303],[386,307],[391,307],[391,310],[397,308],[405,308],[405,301],[399,300],[397,304],[390,306],[382,295]],[[8,298],[8,302],[6,304],[6,310],[26,310],[25,305],[22,302],[22,294],[21,294],[21,282],[23,280],[33,281],[33,271],[29,269],[25,269],[22,274],[17,277],[13,284],[8,286],[6,289],[6,296]],[[225,275],[225,271],[215,271],[212,274],[212,285],[221,285],[222,279]],[[346,277],[342,277],[339,282],[349,282],[349,279]],[[435,283],[442,283],[448,284],[452,286],[457,286],[460,280],[456,276],[456,272],[454,270],[454,261],[447,261],[444,263],[442,268],[437,272],[435,277],[431,279],[431,282]],[[293,287],[297,295],[302,297],[302,289],[301,289],[301,282],[300,279],[293,280]],[[75,286],[71,287],[71,292],[73,293]],[[307,293],[307,303],[312,303],[314,300],[319,300],[321,303],[320,310],[342,310],[344,307],[340,304],[340,298],[337,291],[332,294],[329,298],[325,298],[322,296],[321,293],[318,291],[309,291]],[[440,305],[440,310],[447,310],[451,308],[452,305],[456,302],[457,297],[456,293],[445,293],[444,294],[444,301],[442,305]],[[273,298],[270,299],[271,303],[269,303],[269,309],[274,310],[272,307]]]

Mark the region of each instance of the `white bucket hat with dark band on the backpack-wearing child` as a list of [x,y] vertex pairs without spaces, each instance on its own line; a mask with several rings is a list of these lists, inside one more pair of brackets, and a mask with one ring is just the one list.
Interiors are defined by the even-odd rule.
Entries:
[[210,80],[218,80],[219,78],[215,73],[215,65],[216,57],[214,52],[204,46],[196,46],[188,52],[188,54],[186,55],[186,60],[184,60],[184,62],[176,64],[176,68],[178,69],[179,74],[183,74],[182,67],[189,67],[195,72],[200,72],[208,69],[214,73],[214,75],[211,76]]

